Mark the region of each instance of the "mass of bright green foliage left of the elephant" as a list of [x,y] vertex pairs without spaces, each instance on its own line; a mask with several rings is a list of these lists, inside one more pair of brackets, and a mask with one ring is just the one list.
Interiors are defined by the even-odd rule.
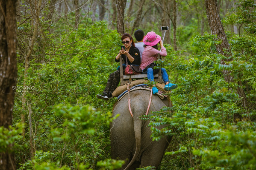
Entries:
[[[109,74],[118,65],[114,56],[121,41],[116,31],[107,29],[106,22],[90,24],[88,28],[80,25],[77,32],[56,30],[56,34],[62,33],[60,39],[68,37],[67,42],[58,42],[52,34],[46,34],[51,38],[44,49],[49,54],[41,57],[40,62],[38,58],[30,61],[26,86],[32,88],[26,91],[25,99],[31,102],[32,142],[34,150],[53,155],[49,161],[33,163],[29,132],[25,130],[24,138],[16,140],[17,146],[23,146],[15,150],[18,168],[35,164],[33,167],[46,169],[99,169],[97,161],[109,157],[110,111],[115,101],[95,100],[95,95],[103,90]],[[40,49],[35,47],[35,51]],[[50,54],[53,51],[54,57]],[[22,87],[23,63],[18,64],[18,75],[17,85]],[[22,93],[16,93],[14,122],[20,122],[22,113],[26,118],[28,108],[22,109]],[[25,120],[25,129],[29,129],[29,121]]]

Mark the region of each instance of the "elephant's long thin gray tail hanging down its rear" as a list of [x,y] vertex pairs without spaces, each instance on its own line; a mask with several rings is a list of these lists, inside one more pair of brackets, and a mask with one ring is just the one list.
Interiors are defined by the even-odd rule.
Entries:
[[127,165],[127,167],[124,170],[128,170],[128,168],[134,163],[134,161],[138,157],[139,152],[141,150],[141,127],[142,127],[142,121],[141,121],[141,119],[139,119],[139,117],[136,117],[134,119],[133,127],[134,127],[135,141],[136,141],[136,149],[135,149],[135,153],[134,153],[134,155],[132,157],[132,160],[129,162],[129,164]]

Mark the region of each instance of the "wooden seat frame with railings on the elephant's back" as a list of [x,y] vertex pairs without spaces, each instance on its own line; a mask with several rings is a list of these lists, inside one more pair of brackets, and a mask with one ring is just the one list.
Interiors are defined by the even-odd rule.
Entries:
[[[160,54],[157,55],[157,59],[162,59]],[[145,79],[147,78],[147,74],[135,74],[135,75],[124,75],[123,70],[123,58],[120,57],[120,85],[125,85],[127,82],[132,82],[132,80],[136,79]],[[161,68],[158,71],[158,74],[154,74],[155,82],[162,83],[162,72]]]

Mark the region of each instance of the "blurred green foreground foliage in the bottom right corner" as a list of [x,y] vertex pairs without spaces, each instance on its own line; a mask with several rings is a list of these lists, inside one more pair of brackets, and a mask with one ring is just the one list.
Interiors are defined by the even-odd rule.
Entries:
[[[241,122],[241,124],[243,124]],[[202,169],[244,170],[255,169],[255,131],[230,126],[227,130],[216,130],[215,142],[211,147],[194,149],[193,153],[201,157]]]

